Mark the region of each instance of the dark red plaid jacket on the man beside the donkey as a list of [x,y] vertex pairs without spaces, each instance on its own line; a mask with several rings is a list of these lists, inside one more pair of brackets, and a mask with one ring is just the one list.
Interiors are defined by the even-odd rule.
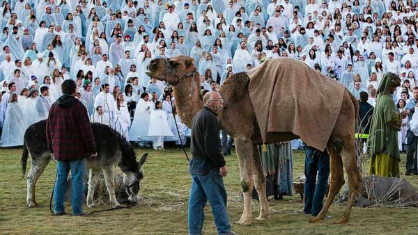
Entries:
[[52,104],[46,132],[48,147],[59,161],[84,159],[96,152],[90,120],[82,102],[66,108]]

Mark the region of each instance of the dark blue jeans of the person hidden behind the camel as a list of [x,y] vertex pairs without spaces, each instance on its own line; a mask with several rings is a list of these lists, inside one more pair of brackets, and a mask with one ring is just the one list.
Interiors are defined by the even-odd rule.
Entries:
[[[330,176],[330,155],[320,152],[313,147],[305,146],[305,177],[307,181],[304,184],[304,213],[311,213],[317,216],[323,208],[323,200],[327,193],[328,177]],[[316,175],[318,172],[318,182],[316,183]],[[315,186],[316,184],[316,186]]]

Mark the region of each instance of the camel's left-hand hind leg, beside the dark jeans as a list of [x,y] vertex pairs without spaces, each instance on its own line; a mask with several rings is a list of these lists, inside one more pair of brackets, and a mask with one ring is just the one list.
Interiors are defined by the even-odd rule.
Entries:
[[309,220],[310,222],[320,222],[327,216],[328,209],[334,200],[334,197],[339,193],[341,187],[344,185],[344,169],[343,161],[341,156],[336,152],[336,149],[333,145],[328,143],[327,145],[328,153],[330,154],[330,170],[331,170],[331,183],[330,183],[330,192],[328,193],[327,200],[323,206],[323,209],[318,213],[318,216]]

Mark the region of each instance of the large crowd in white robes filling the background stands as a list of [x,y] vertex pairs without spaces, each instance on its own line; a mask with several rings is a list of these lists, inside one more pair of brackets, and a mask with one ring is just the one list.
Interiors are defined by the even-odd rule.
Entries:
[[146,74],[153,58],[194,57],[207,90],[279,57],[302,60],[357,98],[368,92],[372,105],[385,72],[401,77],[400,109],[418,85],[416,0],[8,0],[0,25],[2,146],[22,144],[22,130],[74,79],[94,122],[162,148],[177,136],[178,116],[164,83]]

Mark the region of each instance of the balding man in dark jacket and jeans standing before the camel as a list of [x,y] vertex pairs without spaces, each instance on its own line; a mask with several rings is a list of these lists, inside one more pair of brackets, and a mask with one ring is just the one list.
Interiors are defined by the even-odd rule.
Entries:
[[234,234],[226,212],[226,190],[222,177],[226,177],[227,170],[221,154],[219,123],[216,119],[222,103],[218,92],[207,92],[203,96],[203,109],[193,117],[189,234],[201,234],[205,220],[203,208],[208,200],[218,234]]

